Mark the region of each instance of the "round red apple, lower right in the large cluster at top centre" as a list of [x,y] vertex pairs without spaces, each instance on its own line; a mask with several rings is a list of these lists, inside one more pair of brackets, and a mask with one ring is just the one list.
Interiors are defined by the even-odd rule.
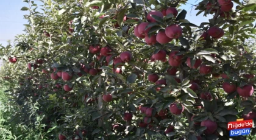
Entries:
[[177,39],[182,36],[182,27],[180,27],[178,24],[172,24],[171,26],[166,27],[165,34],[169,38]]

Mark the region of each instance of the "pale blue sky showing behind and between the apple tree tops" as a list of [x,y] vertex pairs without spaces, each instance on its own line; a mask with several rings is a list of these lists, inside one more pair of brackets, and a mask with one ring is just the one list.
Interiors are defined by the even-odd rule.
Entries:
[[[191,9],[191,4],[197,4],[195,1],[188,0],[188,4],[183,5],[181,9],[187,10],[186,19],[188,21],[199,26],[200,23],[207,22],[209,18],[212,18],[212,15],[205,17],[201,13],[201,15],[196,16],[195,7]],[[37,0],[35,3],[40,5]],[[24,6],[28,7],[27,3],[22,0],[0,0],[0,44],[3,46],[7,45],[7,40],[13,41],[16,35],[23,33],[23,24],[27,24],[23,15],[28,14],[27,11],[20,10]]]

